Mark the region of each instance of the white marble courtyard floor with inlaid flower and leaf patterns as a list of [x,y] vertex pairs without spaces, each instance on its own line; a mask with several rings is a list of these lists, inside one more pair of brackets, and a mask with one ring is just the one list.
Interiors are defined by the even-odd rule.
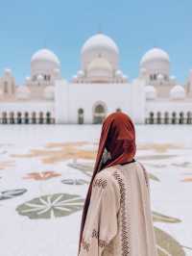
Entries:
[[[0,126],[2,256],[76,256],[100,125]],[[160,256],[192,255],[192,126],[138,125]]]

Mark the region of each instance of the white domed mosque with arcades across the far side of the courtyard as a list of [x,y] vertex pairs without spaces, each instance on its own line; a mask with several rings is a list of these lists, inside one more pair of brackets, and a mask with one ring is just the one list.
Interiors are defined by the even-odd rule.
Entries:
[[133,81],[118,63],[116,43],[101,33],[84,42],[81,68],[69,82],[61,77],[59,58],[38,50],[24,85],[16,85],[11,69],[0,78],[0,123],[101,123],[123,111],[135,123],[192,124],[192,71],[185,85],[178,84],[160,48],[144,54]]

